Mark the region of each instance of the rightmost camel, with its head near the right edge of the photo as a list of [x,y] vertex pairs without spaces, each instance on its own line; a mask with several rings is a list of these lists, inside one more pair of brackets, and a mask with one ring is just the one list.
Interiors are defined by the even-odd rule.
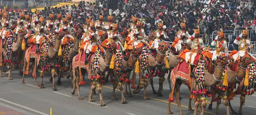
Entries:
[[[238,67],[238,70],[237,71],[232,71],[230,69],[230,67],[227,67],[227,75],[229,76],[228,77],[228,83],[230,85],[233,85],[233,84],[240,84],[241,81],[243,81],[244,79],[244,76],[246,74],[246,67],[251,63],[253,62],[253,59],[252,58],[247,58],[246,56],[243,56],[241,57],[240,59],[241,61],[239,61],[239,67]],[[237,62],[236,62],[237,63]],[[227,90],[228,93],[227,95],[224,93],[224,91],[222,90],[217,90],[216,93],[218,95],[221,95],[221,97],[225,97],[224,98],[224,105],[226,106],[226,108],[228,109],[227,106],[230,107],[231,109],[231,113],[232,114],[235,114],[237,115],[238,113],[236,111],[234,111],[234,109],[232,108],[231,104],[230,104],[230,98],[233,98],[233,96],[235,96],[235,94],[233,93],[233,90],[229,91],[229,89]],[[212,93],[212,96],[215,95],[214,93]],[[228,97],[227,97],[228,96]],[[209,104],[208,106],[208,109],[209,110],[212,110],[212,101],[213,101],[213,98],[211,100],[211,104]],[[221,99],[218,99],[217,100],[217,107],[216,107],[216,115],[218,114],[218,107],[219,107],[219,104],[221,103]],[[239,115],[242,114],[241,112],[242,110],[242,107],[240,105],[240,108],[239,108]]]

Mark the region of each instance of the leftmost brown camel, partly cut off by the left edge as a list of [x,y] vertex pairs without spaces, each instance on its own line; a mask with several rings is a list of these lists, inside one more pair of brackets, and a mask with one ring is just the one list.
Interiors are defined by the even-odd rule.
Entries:
[[[12,33],[12,31],[9,31],[10,33]],[[18,32],[18,35],[17,35],[17,41],[16,42],[12,42],[12,53],[17,53],[17,54],[19,54],[20,53],[20,49],[21,49],[21,45],[22,45],[22,40],[23,40],[23,38],[24,38],[24,36],[27,34],[27,31],[24,31],[22,28],[20,29],[20,31]],[[14,36],[14,34],[12,33],[12,35]],[[6,37],[6,39],[7,39],[8,37]],[[4,42],[4,45],[6,45],[6,43],[7,43],[7,41],[8,40],[6,40],[5,42]],[[6,45],[7,46],[7,45]],[[5,48],[6,48],[6,46],[5,46]],[[1,46],[2,47],[2,46]],[[7,53],[6,53],[6,50],[4,51],[4,56],[5,56],[5,59],[9,59],[10,58],[10,55],[7,55]],[[1,54],[2,55],[2,54]],[[17,60],[18,62],[20,62],[20,59],[17,59],[17,57],[16,56],[11,56],[12,58],[12,61],[13,60]],[[18,57],[20,57],[20,55],[18,56]],[[19,63],[19,67],[20,67],[20,63]],[[11,63],[8,63],[7,64],[7,68],[8,68],[8,73],[6,73],[6,74],[8,74],[8,79],[9,80],[12,80],[12,76],[11,76],[11,72],[14,70],[14,68],[15,68],[15,64],[12,64],[12,62]],[[20,68],[19,68],[19,73],[21,73],[21,70],[20,70]],[[1,77],[3,77],[3,74],[2,74],[2,70],[0,70],[0,76]]]

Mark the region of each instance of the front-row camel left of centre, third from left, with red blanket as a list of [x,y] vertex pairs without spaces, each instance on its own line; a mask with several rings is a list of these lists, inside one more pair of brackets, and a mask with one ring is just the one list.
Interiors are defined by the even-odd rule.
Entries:
[[[89,95],[89,101],[94,102],[93,99],[93,90],[96,89],[99,92],[99,98],[100,98],[100,106],[105,106],[105,103],[102,98],[102,73],[109,70],[111,58],[113,56],[113,50],[116,50],[116,43],[111,44],[108,49],[105,52],[105,59],[100,55],[100,48],[99,44],[95,45],[97,46],[96,52],[88,57],[88,64],[84,65],[85,61],[85,53],[79,53],[73,58],[73,90],[71,91],[71,94],[74,95],[76,88],[78,90],[78,98],[79,100],[83,100],[83,98],[80,95],[80,87],[79,84],[85,84],[82,76],[85,74],[85,70],[87,70],[89,74],[89,79],[92,79],[92,85],[91,85],[91,91]],[[83,57],[83,58],[81,58]],[[98,60],[94,59],[97,58]],[[93,61],[98,61],[98,68],[92,68]],[[96,64],[96,63],[94,63]],[[92,75],[92,76],[90,76]],[[95,78],[96,77],[96,78]]]

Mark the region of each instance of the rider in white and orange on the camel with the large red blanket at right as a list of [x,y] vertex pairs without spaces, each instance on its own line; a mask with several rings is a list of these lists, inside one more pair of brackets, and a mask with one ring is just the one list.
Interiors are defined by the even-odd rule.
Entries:
[[186,40],[191,50],[185,49],[178,56],[190,65],[191,75],[193,75],[193,69],[201,57],[201,50],[205,50],[203,39],[199,37],[199,32],[199,29],[194,29],[194,34]]

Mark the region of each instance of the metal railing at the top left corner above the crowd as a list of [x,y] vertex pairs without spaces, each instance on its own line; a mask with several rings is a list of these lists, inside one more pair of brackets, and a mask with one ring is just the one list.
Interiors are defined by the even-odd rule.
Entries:
[[[57,3],[29,3],[29,7],[36,8],[38,6],[46,7],[46,6],[55,6]],[[9,8],[17,8],[17,9],[24,9],[25,5],[24,2],[0,2],[0,8],[8,6]]]

